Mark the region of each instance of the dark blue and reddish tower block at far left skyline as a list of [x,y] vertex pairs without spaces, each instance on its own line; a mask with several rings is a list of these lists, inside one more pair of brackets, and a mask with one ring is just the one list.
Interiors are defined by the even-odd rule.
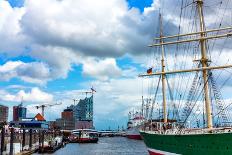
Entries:
[[23,107],[22,104],[13,107],[13,121],[21,121],[26,118],[27,108]]

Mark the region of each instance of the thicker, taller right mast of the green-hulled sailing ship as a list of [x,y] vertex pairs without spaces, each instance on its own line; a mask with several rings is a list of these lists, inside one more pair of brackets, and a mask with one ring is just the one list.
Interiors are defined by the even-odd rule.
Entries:
[[[208,67],[208,58],[206,52],[206,40],[202,39],[205,36],[205,23],[203,15],[203,0],[197,0],[197,9],[200,19],[200,46],[201,46],[201,64],[202,67]],[[205,110],[207,115],[207,127],[210,129],[213,127],[212,123],[212,110],[211,110],[211,101],[209,97],[209,83],[208,83],[208,71],[206,69],[202,70],[203,80],[204,80],[204,95],[205,95]]]

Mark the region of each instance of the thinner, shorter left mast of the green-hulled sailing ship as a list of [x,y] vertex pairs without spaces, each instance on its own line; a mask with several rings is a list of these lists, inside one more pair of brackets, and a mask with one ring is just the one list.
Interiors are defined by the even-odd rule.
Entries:
[[[159,14],[160,18],[160,44],[163,43],[163,24],[162,24],[162,16],[161,13]],[[162,65],[162,72],[165,72],[165,63],[164,63],[164,46],[161,46],[162,58],[161,58],[161,65]],[[167,123],[167,103],[166,103],[166,75],[162,74],[162,94],[163,94],[163,119],[164,123]]]

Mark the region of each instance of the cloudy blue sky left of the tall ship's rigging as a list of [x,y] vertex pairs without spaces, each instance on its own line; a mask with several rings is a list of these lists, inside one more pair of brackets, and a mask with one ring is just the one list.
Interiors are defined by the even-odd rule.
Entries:
[[[165,6],[164,29],[174,33],[179,3],[0,0],[0,100],[10,107],[9,120],[11,107],[22,99],[28,117],[40,112],[35,105],[62,102],[45,109],[46,119],[55,120],[93,87],[95,127],[125,128],[128,112],[141,106],[138,74],[151,65],[147,45],[155,35],[160,7]],[[207,26],[213,27],[210,15]]]

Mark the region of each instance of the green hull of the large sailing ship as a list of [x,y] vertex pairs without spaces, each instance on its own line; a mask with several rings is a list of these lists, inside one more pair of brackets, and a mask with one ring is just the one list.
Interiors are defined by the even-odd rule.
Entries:
[[162,135],[140,132],[150,155],[229,155],[232,133]]

